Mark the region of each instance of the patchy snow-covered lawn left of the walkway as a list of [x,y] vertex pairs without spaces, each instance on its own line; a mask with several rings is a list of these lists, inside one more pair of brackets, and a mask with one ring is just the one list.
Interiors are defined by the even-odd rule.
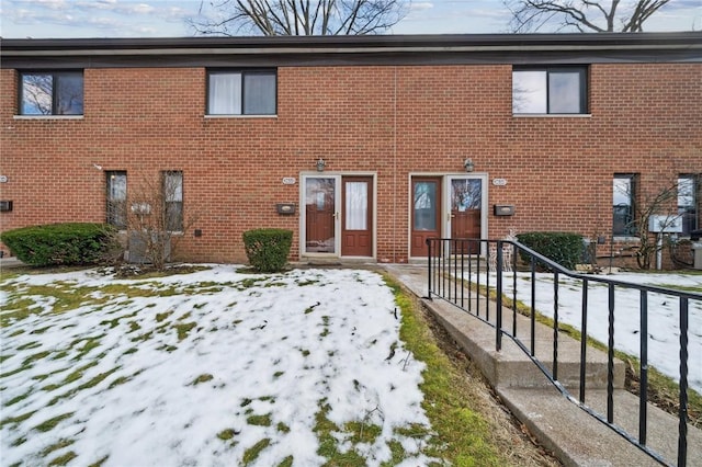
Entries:
[[[81,306],[47,300],[42,287],[81,294]],[[2,465],[231,466],[264,446],[253,465],[292,456],[315,466],[325,414],[340,428],[337,448],[369,465],[390,458],[392,441],[407,465],[429,460],[426,440],[397,431],[430,430],[423,364],[403,349],[399,309],[375,273],[213,265],[115,280],[89,270],[21,275],[3,291]],[[35,300],[34,312],[8,318],[18,297]],[[382,433],[353,443],[349,422]]]

